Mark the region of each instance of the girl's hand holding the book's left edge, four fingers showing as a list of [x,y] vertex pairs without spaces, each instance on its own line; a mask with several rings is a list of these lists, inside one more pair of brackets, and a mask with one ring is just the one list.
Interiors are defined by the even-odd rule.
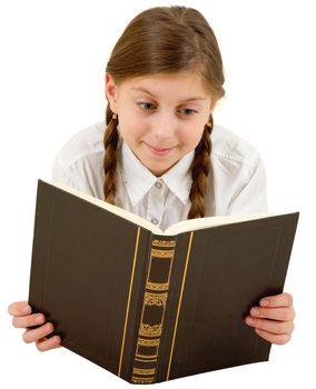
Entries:
[[[22,338],[26,343],[36,342],[36,347],[39,351],[47,351],[60,347],[61,339],[59,336],[53,336],[49,339],[46,338],[53,331],[51,322],[45,322],[46,318],[42,313],[32,313],[31,307],[27,301],[13,302],[9,306],[8,311],[13,316],[12,325],[16,328],[27,328]],[[39,326],[36,329],[29,329],[28,327]]]

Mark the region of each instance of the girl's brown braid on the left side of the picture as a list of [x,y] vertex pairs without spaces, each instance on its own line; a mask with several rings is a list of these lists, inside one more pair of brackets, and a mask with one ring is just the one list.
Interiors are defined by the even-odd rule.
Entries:
[[110,107],[107,107],[107,129],[105,132],[103,144],[106,154],[103,158],[105,183],[103,194],[105,200],[111,205],[115,203],[116,197],[116,167],[117,167],[117,146],[119,133],[117,130],[117,117],[113,116]]

